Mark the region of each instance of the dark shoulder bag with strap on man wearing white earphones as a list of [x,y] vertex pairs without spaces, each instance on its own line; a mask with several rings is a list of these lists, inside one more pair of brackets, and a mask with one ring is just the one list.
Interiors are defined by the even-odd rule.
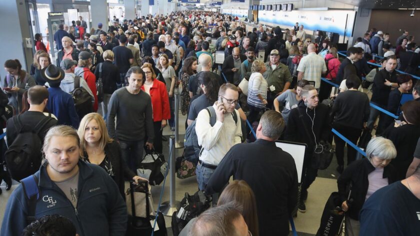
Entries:
[[[303,129],[305,130],[307,137],[309,138],[309,140],[312,140],[309,134],[309,131],[306,128],[306,124],[303,121],[303,115],[301,114],[298,108],[296,109],[297,109],[297,112],[299,112],[299,118],[302,121]],[[332,146],[328,142],[323,142],[323,141],[320,141],[319,144],[314,142],[314,146],[315,146],[315,150],[313,150],[313,153],[312,153],[310,166],[313,169],[325,170],[331,164],[332,158],[334,156],[334,151],[332,150]]]

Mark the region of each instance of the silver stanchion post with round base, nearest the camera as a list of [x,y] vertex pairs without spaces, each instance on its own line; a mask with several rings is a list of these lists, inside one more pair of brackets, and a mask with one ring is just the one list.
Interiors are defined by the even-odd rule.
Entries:
[[160,205],[160,212],[165,216],[172,216],[176,212],[179,202],[175,201],[175,137],[169,137],[169,175],[170,175],[170,184],[169,184],[169,201],[164,202]]

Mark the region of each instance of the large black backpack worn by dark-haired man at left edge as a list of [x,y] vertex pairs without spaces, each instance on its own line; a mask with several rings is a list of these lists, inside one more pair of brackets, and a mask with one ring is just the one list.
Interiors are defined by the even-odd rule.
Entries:
[[19,116],[12,117],[14,128],[18,134],[4,154],[12,179],[21,180],[39,170],[42,160],[42,140],[39,137],[39,132],[50,119],[51,117],[45,116],[31,129],[22,125]]

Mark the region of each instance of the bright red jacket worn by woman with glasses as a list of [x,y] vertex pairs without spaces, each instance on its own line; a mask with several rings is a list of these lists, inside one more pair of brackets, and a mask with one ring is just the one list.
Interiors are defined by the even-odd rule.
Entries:
[[[144,85],[141,86],[144,91]],[[157,79],[153,80],[150,87],[151,108],[153,109],[153,121],[169,120],[169,97],[166,91],[166,85]]]

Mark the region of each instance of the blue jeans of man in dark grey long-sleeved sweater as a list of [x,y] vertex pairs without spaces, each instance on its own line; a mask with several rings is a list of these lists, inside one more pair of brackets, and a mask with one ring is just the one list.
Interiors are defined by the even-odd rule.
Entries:
[[143,160],[143,149],[144,141],[119,141],[119,147],[121,148],[121,157],[134,173],[137,173],[137,169],[140,167],[140,163]]

